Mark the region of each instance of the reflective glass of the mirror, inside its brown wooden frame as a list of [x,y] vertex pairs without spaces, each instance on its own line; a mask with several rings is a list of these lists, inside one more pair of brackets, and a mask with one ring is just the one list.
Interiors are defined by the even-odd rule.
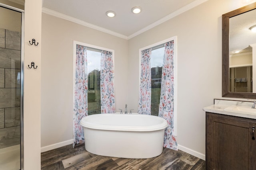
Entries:
[[256,92],[256,9],[229,18],[229,92]]

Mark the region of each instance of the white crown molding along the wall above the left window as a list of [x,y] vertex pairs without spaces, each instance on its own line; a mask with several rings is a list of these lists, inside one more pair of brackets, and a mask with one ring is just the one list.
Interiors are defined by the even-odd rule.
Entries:
[[120,37],[120,38],[123,38],[123,39],[128,39],[128,37],[126,35],[122,35],[120,33],[116,33],[114,31],[111,31],[109,29],[106,29],[106,28],[103,28],[103,27],[99,27],[99,26],[96,26],[96,25],[93,25],[91,23],[88,23],[88,22],[85,22],[85,21],[82,21],[82,20],[78,20],[74,17],[71,17],[71,16],[68,16],[68,15],[65,15],[65,14],[62,14],[60,12],[56,12],[54,10],[50,10],[48,8],[42,8],[42,12],[44,12],[45,14],[49,14],[49,15],[52,15],[52,16],[56,16],[58,18],[62,18],[64,20],[68,20],[68,21],[71,21],[71,22],[74,22],[74,23],[78,23],[80,25],[84,25],[86,27],[89,27],[89,28],[92,28],[92,29],[96,29],[98,31],[102,31],[104,33],[108,33],[108,34],[111,34],[111,35],[114,35],[116,37]]

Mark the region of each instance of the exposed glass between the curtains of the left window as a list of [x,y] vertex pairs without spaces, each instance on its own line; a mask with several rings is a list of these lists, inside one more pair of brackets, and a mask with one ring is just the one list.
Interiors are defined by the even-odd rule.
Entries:
[[100,56],[87,49],[88,115],[100,113]]

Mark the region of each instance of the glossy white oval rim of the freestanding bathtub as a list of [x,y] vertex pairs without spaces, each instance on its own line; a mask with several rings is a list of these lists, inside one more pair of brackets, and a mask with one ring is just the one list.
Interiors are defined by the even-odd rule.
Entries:
[[[86,119],[90,119],[90,117],[96,117],[96,116],[138,116],[138,117],[142,117],[142,116],[150,116],[152,117],[152,119],[158,119],[161,121],[161,123],[156,124],[156,125],[148,125],[148,126],[123,126],[123,125],[103,125],[103,124],[95,124],[95,123],[91,123],[91,122],[86,122]],[[158,116],[154,116],[154,115],[142,115],[142,114],[115,114],[115,113],[111,113],[111,114],[95,114],[95,115],[88,115],[86,117],[83,117],[80,121],[80,125],[82,125],[82,127],[87,127],[90,129],[98,129],[98,130],[110,130],[110,131],[158,131],[161,129],[165,129],[168,126],[167,121],[162,118],[162,117],[158,117]]]

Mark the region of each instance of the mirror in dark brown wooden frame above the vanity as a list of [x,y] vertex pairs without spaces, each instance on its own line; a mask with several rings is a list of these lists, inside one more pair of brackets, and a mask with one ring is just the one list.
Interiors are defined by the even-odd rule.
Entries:
[[256,99],[254,25],[256,2],[222,15],[222,97]]

